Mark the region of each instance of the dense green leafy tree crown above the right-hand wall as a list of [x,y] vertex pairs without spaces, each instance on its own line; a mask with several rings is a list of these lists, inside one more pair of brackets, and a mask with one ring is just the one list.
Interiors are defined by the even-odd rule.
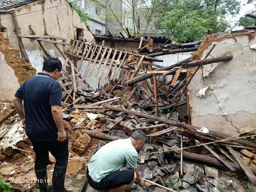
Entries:
[[173,0],[155,14],[155,27],[170,33],[173,41],[197,41],[206,34],[226,30],[226,14],[240,10],[237,0]]

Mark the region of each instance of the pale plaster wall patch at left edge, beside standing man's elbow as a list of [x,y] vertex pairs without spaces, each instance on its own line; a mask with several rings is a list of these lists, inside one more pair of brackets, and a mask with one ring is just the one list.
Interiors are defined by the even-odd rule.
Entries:
[[4,54],[1,52],[0,74],[0,101],[12,101],[14,93],[19,89],[19,83],[14,70],[5,62]]

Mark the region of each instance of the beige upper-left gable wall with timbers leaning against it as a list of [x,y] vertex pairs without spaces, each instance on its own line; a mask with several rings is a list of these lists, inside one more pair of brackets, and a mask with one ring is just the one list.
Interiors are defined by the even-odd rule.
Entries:
[[[66,0],[45,0],[36,1],[17,8],[16,14],[19,28],[22,34],[32,34],[29,25],[32,25],[38,35],[44,35],[45,31],[49,35],[63,37],[70,43],[74,39],[76,28],[84,30],[84,38],[87,41],[96,42],[93,34],[87,26],[80,20],[78,13],[67,4]],[[56,7],[57,6],[57,7]],[[11,46],[18,48],[18,40],[14,30],[11,14],[0,14],[0,24],[6,27],[4,37],[9,39]],[[22,38],[30,63],[42,71],[44,52],[38,42],[28,38]],[[42,42],[47,50],[54,56],[58,56],[64,63],[64,58],[52,43]],[[67,50],[68,45],[57,45],[61,50]]]

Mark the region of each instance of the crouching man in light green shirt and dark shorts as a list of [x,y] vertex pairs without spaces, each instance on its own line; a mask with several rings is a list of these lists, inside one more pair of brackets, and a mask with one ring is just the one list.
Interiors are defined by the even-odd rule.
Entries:
[[[138,181],[144,187],[145,181],[137,169],[138,153],[146,140],[143,131],[135,131],[128,139],[112,141],[93,155],[87,167],[87,180],[98,191],[111,189],[121,192]],[[121,170],[126,167],[128,170]]]

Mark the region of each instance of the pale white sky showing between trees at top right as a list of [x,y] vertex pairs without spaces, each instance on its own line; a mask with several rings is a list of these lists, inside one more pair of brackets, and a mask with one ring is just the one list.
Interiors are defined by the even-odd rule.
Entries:
[[[240,10],[239,14],[236,15],[235,17],[227,15],[227,19],[230,20],[232,23],[236,23],[241,16],[244,16],[250,10],[256,9],[252,3],[246,4],[246,2],[247,2],[247,0],[241,0],[241,10]],[[233,30],[240,30],[240,29],[243,29],[243,27],[237,26]]]

